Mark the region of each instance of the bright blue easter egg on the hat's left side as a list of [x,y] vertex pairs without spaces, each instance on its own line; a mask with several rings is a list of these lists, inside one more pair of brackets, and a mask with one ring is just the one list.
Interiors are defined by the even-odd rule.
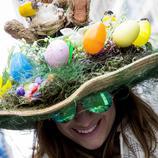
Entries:
[[14,81],[24,82],[32,77],[33,66],[22,53],[15,53],[10,60],[10,75]]

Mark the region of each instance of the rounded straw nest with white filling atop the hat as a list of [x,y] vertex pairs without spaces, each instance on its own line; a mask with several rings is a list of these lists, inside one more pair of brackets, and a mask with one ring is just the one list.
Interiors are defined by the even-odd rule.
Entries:
[[65,21],[66,16],[62,8],[53,3],[43,4],[32,18],[29,29],[35,35],[52,35],[64,27]]

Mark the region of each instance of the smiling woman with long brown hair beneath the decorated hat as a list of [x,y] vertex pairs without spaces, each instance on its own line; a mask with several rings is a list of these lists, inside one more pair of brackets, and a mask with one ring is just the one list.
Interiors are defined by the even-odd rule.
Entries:
[[157,157],[158,116],[127,87],[109,95],[104,112],[90,112],[81,101],[68,122],[59,123],[57,118],[38,122],[37,157],[43,153],[49,158]]

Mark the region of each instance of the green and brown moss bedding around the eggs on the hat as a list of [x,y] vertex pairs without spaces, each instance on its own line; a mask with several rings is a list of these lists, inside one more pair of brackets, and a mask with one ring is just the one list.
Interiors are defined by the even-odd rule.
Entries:
[[118,48],[113,42],[108,41],[105,48],[98,55],[91,56],[83,53],[82,47],[75,47],[73,59],[70,64],[62,67],[50,67],[44,60],[43,53],[52,38],[39,40],[33,45],[22,44],[20,50],[26,54],[35,67],[34,75],[27,83],[32,83],[36,77],[41,77],[44,82],[38,92],[40,96],[36,99],[19,97],[16,95],[16,83],[2,100],[0,109],[17,108],[43,108],[70,96],[85,81],[103,75],[104,73],[115,71],[133,61],[153,53],[152,47]]

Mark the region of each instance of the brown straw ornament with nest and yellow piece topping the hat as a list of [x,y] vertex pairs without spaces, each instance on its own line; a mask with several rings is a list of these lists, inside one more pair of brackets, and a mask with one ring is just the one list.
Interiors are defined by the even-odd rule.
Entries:
[[[88,23],[90,0],[19,0],[18,20],[7,21],[4,29],[15,39],[33,43],[39,38],[52,36],[61,28],[84,26]],[[77,6],[77,7],[76,7]]]

